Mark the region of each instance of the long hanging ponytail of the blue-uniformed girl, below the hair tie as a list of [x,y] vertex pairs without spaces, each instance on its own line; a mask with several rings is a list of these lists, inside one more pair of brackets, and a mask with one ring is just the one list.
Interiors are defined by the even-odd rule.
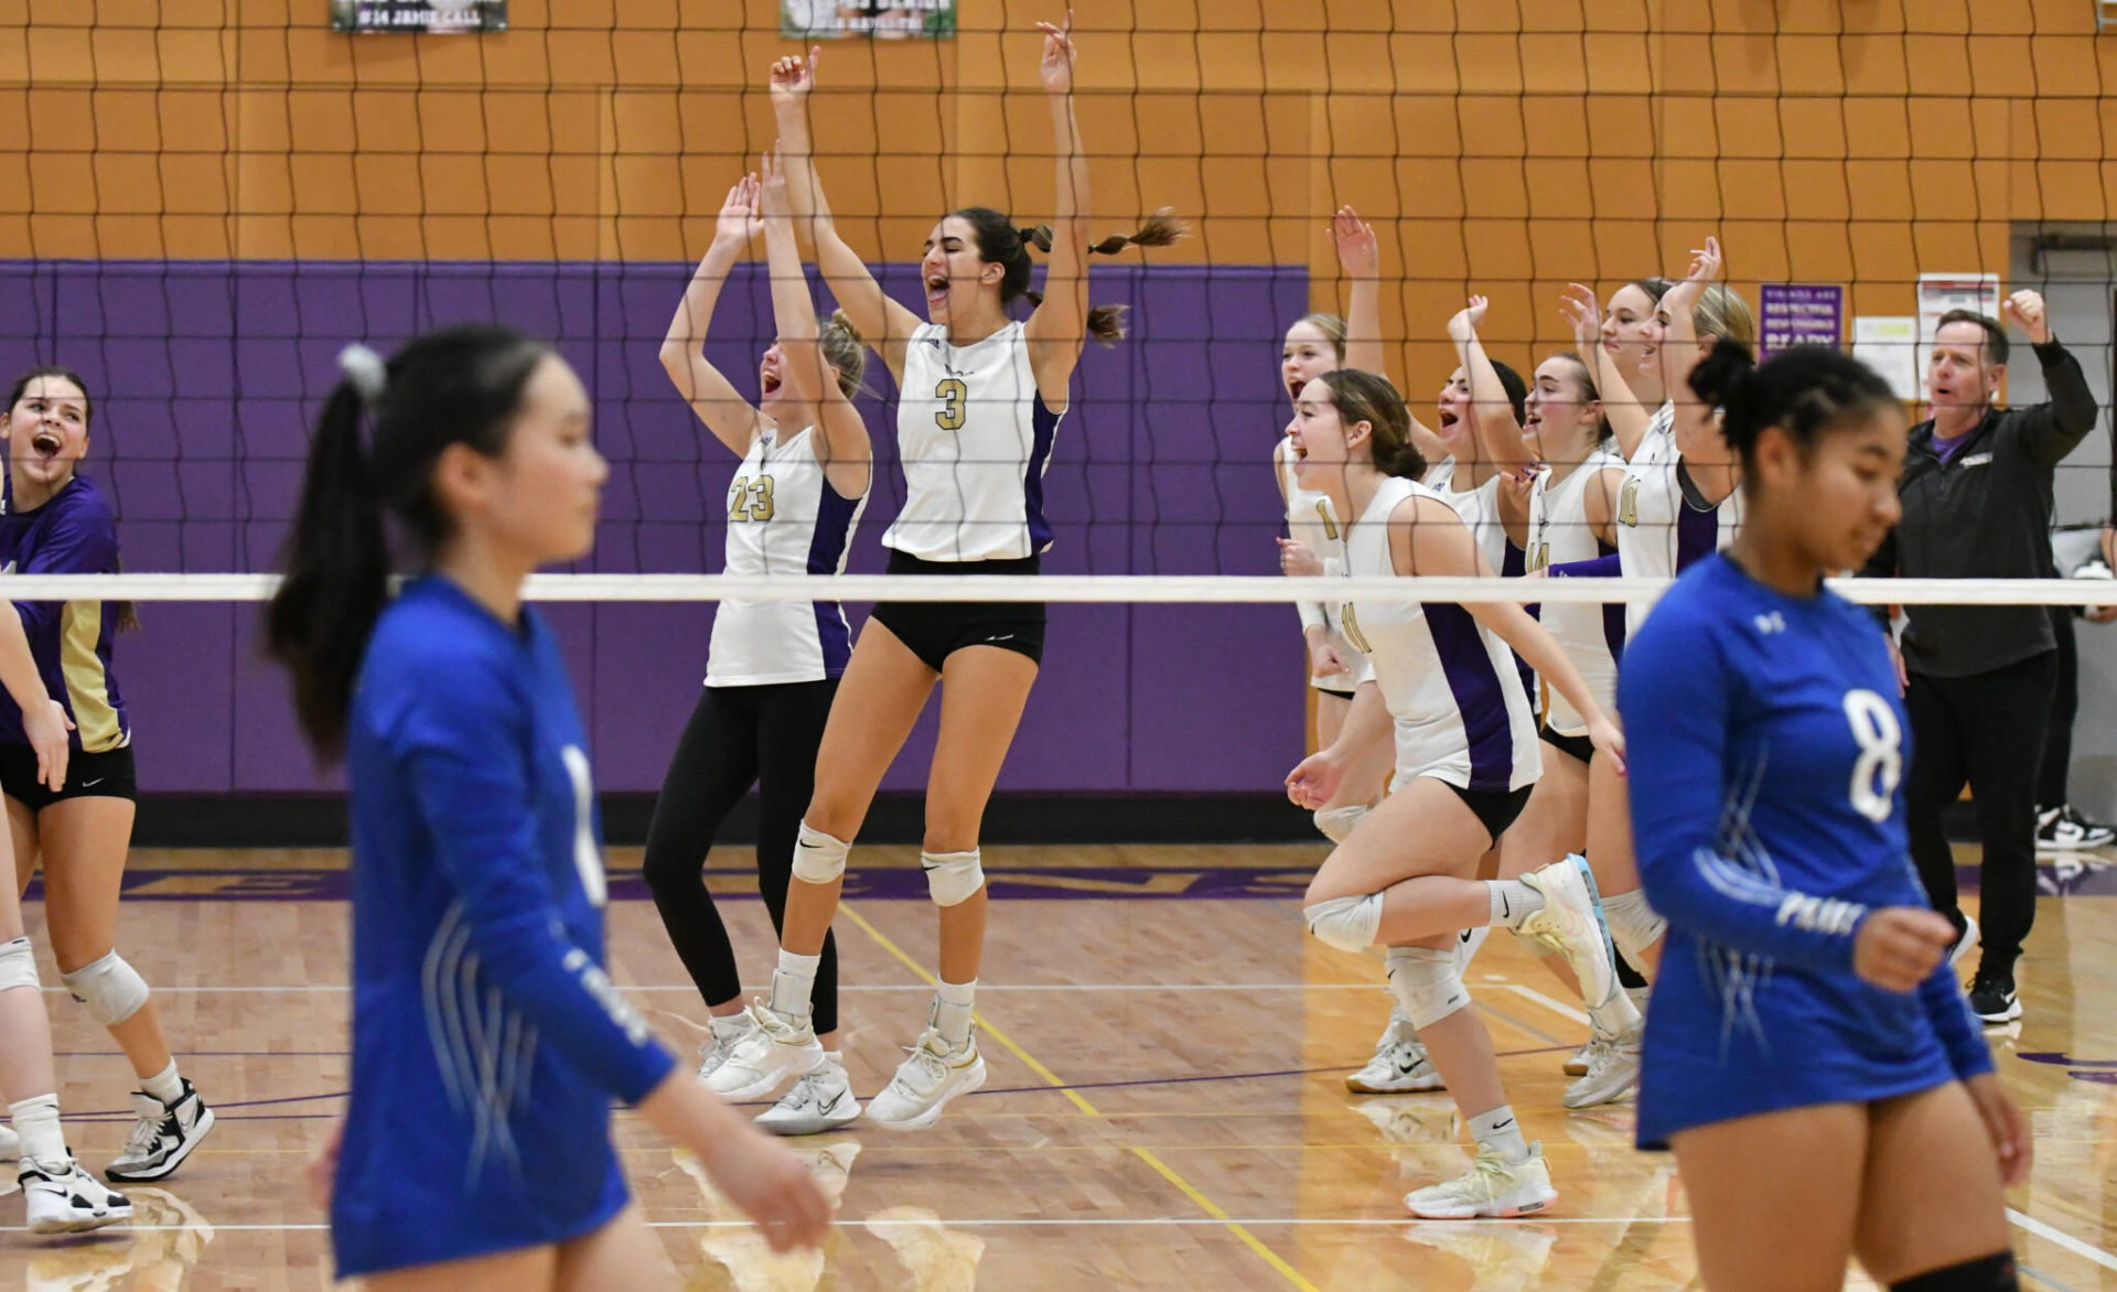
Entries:
[[324,762],[345,754],[345,714],[390,599],[381,496],[360,447],[364,400],[347,377],[315,424],[286,580],[265,610],[265,650],[294,676],[294,718]]

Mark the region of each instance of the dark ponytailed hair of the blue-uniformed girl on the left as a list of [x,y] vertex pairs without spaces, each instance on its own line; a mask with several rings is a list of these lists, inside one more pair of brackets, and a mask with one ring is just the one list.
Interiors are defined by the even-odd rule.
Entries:
[[[508,447],[523,390],[550,347],[472,324],[411,341],[387,366],[368,349],[341,356],[341,379],[315,421],[301,508],[265,608],[265,650],[294,682],[294,718],[322,762],[345,754],[345,716],[375,621],[390,602],[385,513],[419,563],[455,527],[434,491],[449,445],[487,457]],[[373,451],[362,424],[373,417]]]

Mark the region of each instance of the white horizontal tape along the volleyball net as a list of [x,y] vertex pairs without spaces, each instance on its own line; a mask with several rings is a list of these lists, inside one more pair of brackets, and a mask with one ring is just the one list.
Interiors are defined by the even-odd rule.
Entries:
[[[0,574],[13,602],[263,602],[275,574]],[[1863,606],[2117,606],[2109,578],[1833,578]],[[1662,578],[1281,578],[1211,574],[536,574],[531,602],[1651,602]]]

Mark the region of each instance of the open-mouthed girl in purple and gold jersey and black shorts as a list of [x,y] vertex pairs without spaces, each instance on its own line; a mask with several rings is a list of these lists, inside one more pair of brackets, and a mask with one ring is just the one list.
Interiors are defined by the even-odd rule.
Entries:
[[[19,574],[116,574],[116,513],[78,472],[89,451],[87,385],[66,369],[15,381],[6,424],[0,568]],[[0,697],[0,792],[15,849],[15,894],[44,866],[44,919],[59,981],[131,1061],[138,1120],[104,1167],[110,1180],[167,1180],[214,1129],[214,1110],[176,1070],[146,979],[116,953],[119,890],[131,854],[131,716],[112,671],[112,642],[135,627],[125,602],[15,602],[44,690],[74,731],[66,775],[40,775],[42,754],[21,707]]]

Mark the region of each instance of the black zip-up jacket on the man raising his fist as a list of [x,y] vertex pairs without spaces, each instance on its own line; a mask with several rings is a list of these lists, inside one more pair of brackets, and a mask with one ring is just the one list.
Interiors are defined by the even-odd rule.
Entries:
[[[2053,339],[2037,345],[2051,402],[1990,409],[1943,464],[1933,421],[1912,428],[1897,496],[1903,519],[1861,574],[1869,578],[2049,578],[2051,481],[2096,426],[2081,364]],[[1903,665],[1969,678],[2058,648],[2043,606],[1907,606]]]

